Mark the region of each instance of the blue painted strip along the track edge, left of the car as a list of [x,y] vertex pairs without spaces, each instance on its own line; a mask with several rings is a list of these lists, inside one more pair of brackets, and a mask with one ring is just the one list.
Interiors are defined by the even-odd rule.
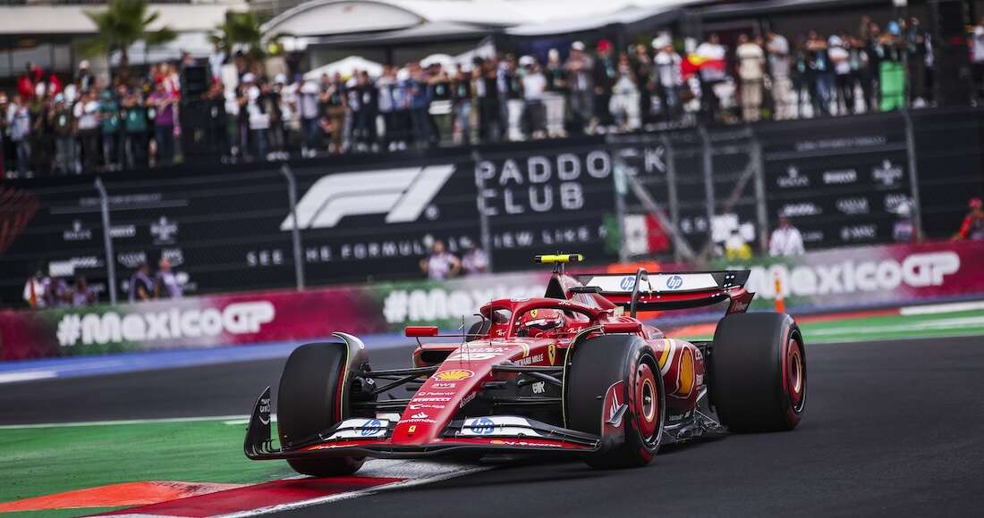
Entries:
[[[389,349],[413,345],[414,342],[397,334],[361,336],[368,349]],[[252,362],[286,358],[297,346],[322,340],[271,342],[255,345],[234,345],[208,349],[171,349],[101,356],[44,358],[16,362],[0,362],[2,374],[42,374],[38,378],[84,375],[122,374],[161,369],[181,369],[234,362]]]

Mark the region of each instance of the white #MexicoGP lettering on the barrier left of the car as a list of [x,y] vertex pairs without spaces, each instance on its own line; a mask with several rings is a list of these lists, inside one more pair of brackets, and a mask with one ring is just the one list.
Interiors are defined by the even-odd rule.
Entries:
[[250,334],[260,332],[264,323],[274,320],[274,305],[267,301],[234,303],[222,311],[179,310],[120,315],[116,311],[103,314],[65,315],[58,321],[58,344],[72,347],[80,341],[85,345],[152,340],[177,340],[219,336],[222,333]]

